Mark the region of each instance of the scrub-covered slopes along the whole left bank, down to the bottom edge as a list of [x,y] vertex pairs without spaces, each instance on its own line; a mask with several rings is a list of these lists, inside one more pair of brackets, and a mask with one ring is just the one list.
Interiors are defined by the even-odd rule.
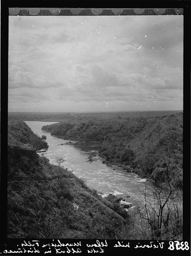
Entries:
[[22,121],[9,122],[8,237],[123,238],[130,218],[119,202],[111,203],[72,172],[50,165],[36,153],[44,146],[37,141]]

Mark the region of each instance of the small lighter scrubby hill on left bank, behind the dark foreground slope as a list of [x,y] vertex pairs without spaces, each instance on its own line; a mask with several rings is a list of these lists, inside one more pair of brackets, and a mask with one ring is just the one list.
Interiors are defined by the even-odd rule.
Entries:
[[48,148],[46,141],[35,135],[28,125],[20,120],[8,120],[8,145],[40,150]]

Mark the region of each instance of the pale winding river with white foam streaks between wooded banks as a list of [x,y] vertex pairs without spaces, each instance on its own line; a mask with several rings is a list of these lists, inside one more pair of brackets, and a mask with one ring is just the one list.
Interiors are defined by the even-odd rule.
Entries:
[[61,145],[68,140],[52,136],[49,132],[42,131],[41,128],[46,124],[54,124],[55,122],[41,121],[25,121],[25,123],[38,135],[46,135],[46,142],[49,145],[43,154],[50,160],[51,164],[56,165],[55,157],[64,158],[63,167],[73,171],[77,177],[85,180],[86,184],[103,196],[113,193],[118,196],[126,197],[128,202],[133,205],[142,205],[144,203],[144,190],[147,185],[147,198],[152,201],[153,188],[150,182],[137,177],[136,174],[127,173],[126,171],[117,168],[113,170],[102,163],[101,159],[93,162],[87,162],[91,150],[97,150],[97,143],[76,143],[70,145]]

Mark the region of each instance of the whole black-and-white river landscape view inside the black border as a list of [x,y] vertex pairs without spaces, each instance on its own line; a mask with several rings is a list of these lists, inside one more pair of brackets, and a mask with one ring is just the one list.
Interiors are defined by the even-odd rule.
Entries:
[[8,238],[182,241],[183,14],[122,11],[9,15]]

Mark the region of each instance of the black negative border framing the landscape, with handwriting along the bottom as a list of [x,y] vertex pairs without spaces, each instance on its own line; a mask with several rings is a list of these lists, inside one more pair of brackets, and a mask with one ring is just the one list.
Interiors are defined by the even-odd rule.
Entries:
[[[17,6],[30,6],[28,8],[21,8]],[[36,7],[47,6],[47,7]],[[59,6],[66,6],[66,8],[59,8]],[[80,7],[78,7],[80,6]],[[81,8],[81,6],[92,6],[92,8]],[[96,8],[96,7],[99,8]],[[103,6],[113,6],[113,8],[103,8]],[[124,6],[125,8],[121,8]],[[127,7],[126,7],[127,6]],[[130,8],[129,8],[129,7]],[[136,8],[135,8],[136,7]],[[139,7],[139,8],[137,8]],[[150,8],[153,7],[153,8]],[[157,8],[160,7],[160,8]],[[178,7],[178,8],[172,8]],[[174,0],[174,1],[118,1],[116,2],[74,2],[74,1],[2,1],[1,5],[1,255],[20,255],[12,252],[4,253],[4,250],[17,250],[17,244],[23,243],[24,239],[7,238],[7,100],[8,100],[8,21],[9,15],[18,16],[76,16],[76,15],[183,15],[184,16],[184,74],[183,74],[183,241],[188,241],[190,247],[190,56],[191,56],[191,3],[188,0]],[[26,241],[32,241],[32,239],[25,239]],[[38,239],[41,243],[50,243],[52,239]],[[60,239],[66,243],[66,240]],[[99,239],[100,240],[100,239]],[[82,241],[82,255],[90,255],[87,253],[86,244],[94,244],[95,240],[83,240],[83,239],[67,239],[67,242]],[[101,240],[100,240],[101,241]],[[104,241],[103,241],[104,242]],[[128,241],[124,241],[127,244]],[[133,241],[129,240],[132,244],[132,248],[113,248],[114,240],[108,240],[108,247],[105,249],[104,255],[110,255],[111,253],[120,253],[121,255],[127,255],[127,253],[145,253],[146,255],[152,255],[155,252],[164,253],[168,252],[171,255],[190,255],[190,250],[169,250],[168,241],[165,242],[163,249],[134,249],[134,245],[149,244],[149,241]],[[159,241],[162,242],[162,241]],[[72,252],[71,252],[72,253]],[[38,255],[38,253],[23,253],[24,255]],[[54,255],[54,253],[49,253]],[[76,254],[76,253],[72,253]]]

